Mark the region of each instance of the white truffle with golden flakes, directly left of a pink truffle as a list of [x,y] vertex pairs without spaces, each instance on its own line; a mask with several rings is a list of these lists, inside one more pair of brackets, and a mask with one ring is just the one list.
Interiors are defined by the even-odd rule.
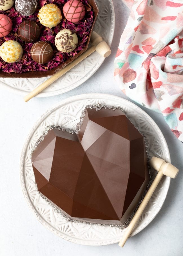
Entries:
[[39,10],[39,14],[37,17],[39,18],[39,21],[43,26],[52,28],[60,23],[62,19],[62,14],[61,10],[57,5],[48,4],[44,5]]

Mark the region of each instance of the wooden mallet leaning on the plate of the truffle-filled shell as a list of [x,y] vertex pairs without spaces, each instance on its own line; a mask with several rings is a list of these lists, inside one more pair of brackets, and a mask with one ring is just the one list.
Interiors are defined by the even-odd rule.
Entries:
[[93,31],[91,38],[90,38],[91,47],[86,50],[83,54],[81,54],[79,57],[77,57],[75,60],[73,60],[71,63],[69,63],[66,67],[55,73],[52,77],[50,77],[48,80],[46,80],[44,83],[36,87],[32,92],[27,94],[24,97],[24,101],[27,102],[33,97],[35,97],[37,94],[39,94],[41,91],[43,91],[45,88],[47,88],[50,84],[52,84],[54,81],[56,81],[58,78],[63,76],[67,71],[75,67],[78,63],[80,63],[83,59],[88,57],[93,52],[97,51],[102,57],[106,58],[111,54],[111,49],[107,45],[105,41],[103,41],[102,37],[99,36],[95,31]]

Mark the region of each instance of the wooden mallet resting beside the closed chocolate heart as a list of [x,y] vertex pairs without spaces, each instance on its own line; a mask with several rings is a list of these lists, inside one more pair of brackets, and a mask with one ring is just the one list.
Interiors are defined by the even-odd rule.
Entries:
[[144,211],[146,205],[149,202],[149,199],[153,195],[156,187],[158,186],[161,178],[163,175],[169,176],[171,178],[176,178],[178,174],[178,169],[173,166],[172,164],[167,164],[163,159],[157,158],[153,156],[150,161],[151,167],[153,167],[156,171],[158,171],[156,178],[154,179],[153,183],[151,184],[147,194],[145,195],[144,199],[142,200],[142,203],[140,204],[137,212],[135,213],[133,219],[131,220],[129,226],[126,228],[126,231],[122,237],[122,239],[119,242],[119,246],[123,247],[126,243],[126,240],[131,234],[131,231],[133,230],[135,224],[137,223],[137,220],[142,215],[142,212]]

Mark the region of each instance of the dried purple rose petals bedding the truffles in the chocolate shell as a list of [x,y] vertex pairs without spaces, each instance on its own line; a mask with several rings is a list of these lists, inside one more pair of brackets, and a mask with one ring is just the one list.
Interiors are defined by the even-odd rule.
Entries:
[[[6,36],[0,38],[0,46],[6,40],[15,40],[18,41],[23,47],[23,56],[22,59],[18,62],[14,63],[6,63],[0,58],[0,70],[4,72],[15,72],[15,73],[23,73],[27,71],[45,71],[50,70],[55,67],[58,67],[61,63],[69,59],[71,56],[75,56],[79,51],[81,51],[87,43],[88,36],[90,34],[90,29],[93,24],[93,11],[86,12],[86,16],[83,21],[73,24],[70,21],[67,21],[64,17],[59,25],[53,28],[46,28],[40,24],[37,15],[39,13],[39,9],[49,3],[57,4],[59,7],[63,7],[64,3],[68,0],[40,0],[38,1],[38,8],[33,15],[29,17],[21,16],[15,9],[12,7],[6,11],[0,11],[0,14],[5,14],[12,19],[13,27],[12,32]],[[84,5],[88,5],[88,0],[80,0]],[[41,28],[41,36],[39,37],[38,41],[47,41],[52,45],[54,55],[53,58],[46,64],[38,64],[32,60],[30,56],[30,49],[32,47],[32,43],[25,43],[21,39],[19,39],[17,35],[17,29],[19,25],[22,23],[23,20],[30,19],[32,21],[36,21],[40,28]],[[55,36],[61,29],[70,29],[74,30],[77,33],[79,44],[78,47],[70,53],[61,53],[58,52],[57,48],[55,47]]]

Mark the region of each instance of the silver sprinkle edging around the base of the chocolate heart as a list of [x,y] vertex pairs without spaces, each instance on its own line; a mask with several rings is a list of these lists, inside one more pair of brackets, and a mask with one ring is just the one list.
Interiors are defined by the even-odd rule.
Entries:
[[[116,109],[120,109],[123,114],[128,118],[128,115],[124,112],[124,110],[120,107],[111,107],[111,106],[107,106],[107,105],[101,105],[101,104],[96,104],[96,105],[87,105],[84,110],[82,110],[81,112],[81,117],[80,117],[80,122],[77,123],[76,125],[76,130],[72,130],[70,128],[63,128],[59,125],[48,125],[45,127],[45,130],[43,131],[42,135],[39,137],[39,139],[37,140],[37,142],[35,143],[34,147],[32,148],[31,150],[31,155],[32,153],[34,152],[34,150],[37,148],[37,146],[44,140],[44,137],[48,134],[48,131],[49,130],[52,130],[52,129],[58,129],[58,130],[61,130],[63,132],[68,132],[68,133],[71,133],[71,134],[78,134],[80,129],[81,129],[81,126],[82,126],[82,123],[83,123],[83,120],[84,120],[84,116],[85,116],[85,112],[86,112],[86,109],[96,109],[96,111],[99,111],[101,110],[102,108],[104,109],[113,109],[114,111]],[[130,120],[130,118],[128,118],[128,120]],[[130,120],[131,122],[131,120]],[[151,167],[150,167],[150,156],[149,156],[149,152],[148,152],[148,139],[146,137],[146,135],[144,133],[141,133],[139,128],[137,126],[134,125],[133,122],[131,122],[133,124],[133,126],[139,131],[139,133],[143,136],[144,138],[144,143],[145,143],[145,147],[146,147],[146,153],[147,153],[147,160],[148,160],[148,170],[149,170],[149,183],[148,183],[148,186],[146,187],[146,190],[144,191],[144,194],[142,195],[140,201],[139,201],[139,204],[137,205],[137,208],[135,209],[135,211],[133,211],[133,213],[131,214],[131,216],[126,220],[126,222],[123,224],[123,225],[112,225],[112,224],[100,224],[100,223],[90,223],[90,222],[87,222],[87,221],[79,221],[79,220],[72,220],[70,219],[68,216],[66,216],[60,209],[58,209],[56,206],[54,206],[46,197],[44,197],[43,194],[41,194],[38,189],[37,189],[37,185],[36,185],[36,182],[35,182],[35,186],[36,186],[36,190],[37,192],[39,193],[39,195],[50,205],[53,207],[53,210],[56,212],[56,213],[59,213],[62,217],[64,217],[66,219],[66,221],[68,222],[77,222],[77,223],[83,223],[83,224],[88,224],[88,225],[97,225],[97,226],[108,226],[108,227],[117,227],[117,228],[120,228],[120,229],[124,229],[124,228],[127,228],[128,225],[130,224],[133,216],[135,215],[136,211],[138,210],[142,200],[144,199],[149,187],[151,186],[152,182],[153,182],[153,179],[154,179],[154,175],[152,174],[151,172]],[[31,158],[31,155],[30,155],[30,158]]]

